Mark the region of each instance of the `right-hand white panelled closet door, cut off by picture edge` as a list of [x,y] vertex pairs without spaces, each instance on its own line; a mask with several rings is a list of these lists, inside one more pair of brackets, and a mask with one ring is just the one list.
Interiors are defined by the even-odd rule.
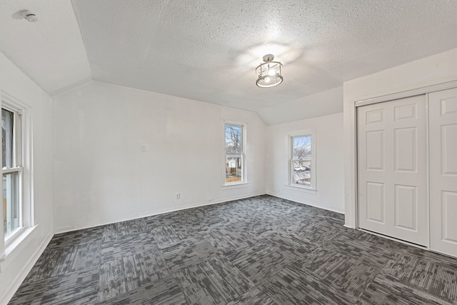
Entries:
[[457,256],[457,89],[428,95],[430,248]]

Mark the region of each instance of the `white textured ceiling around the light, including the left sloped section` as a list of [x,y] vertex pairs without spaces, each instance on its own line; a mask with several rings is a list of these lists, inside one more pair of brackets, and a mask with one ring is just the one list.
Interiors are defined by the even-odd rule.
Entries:
[[[6,0],[0,14],[0,51],[51,94],[93,77],[254,111],[457,47],[446,0]],[[284,82],[258,89],[268,53]]]

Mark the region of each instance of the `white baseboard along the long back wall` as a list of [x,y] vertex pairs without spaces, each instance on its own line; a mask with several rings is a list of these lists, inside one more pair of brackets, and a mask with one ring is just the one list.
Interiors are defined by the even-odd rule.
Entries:
[[[218,201],[211,201],[211,202],[198,203],[198,204],[188,204],[186,206],[179,206],[179,207],[176,207],[174,209],[160,209],[160,210],[156,210],[156,211],[150,211],[150,212],[146,212],[146,213],[141,213],[141,214],[139,214],[138,217],[131,217],[131,218],[127,218],[127,219],[121,219],[121,220],[118,220],[118,221],[111,221],[111,222],[107,222],[107,223],[103,223],[103,224],[96,224],[94,226],[82,226],[82,227],[64,226],[64,227],[60,227],[60,228],[56,229],[55,234],[61,234],[61,233],[66,233],[66,232],[71,232],[71,231],[76,231],[76,230],[82,230],[82,229],[89,229],[89,228],[94,228],[96,226],[106,226],[107,224],[116,224],[116,222],[120,222],[120,221],[129,221],[129,220],[140,219],[140,218],[149,217],[149,216],[166,214],[166,213],[170,213],[170,212],[174,212],[174,211],[193,209],[193,208],[197,208],[199,206],[211,206],[212,204],[222,204],[222,203],[227,202],[227,201],[245,199],[245,198],[250,198],[250,197],[254,197],[254,196],[261,196],[261,195],[265,195],[265,194],[266,193],[264,193],[264,192],[256,193],[256,194],[248,194],[248,195],[244,195],[244,196],[235,196],[235,197],[225,198],[225,199],[221,199],[221,200],[218,200]],[[63,229],[63,230],[61,230],[61,229]]]

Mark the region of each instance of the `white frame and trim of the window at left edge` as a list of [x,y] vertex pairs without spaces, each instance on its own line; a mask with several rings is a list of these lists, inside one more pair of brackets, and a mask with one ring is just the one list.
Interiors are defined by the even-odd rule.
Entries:
[[[14,113],[14,167],[3,169],[2,174],[18,172],[18,199],[19,199],[19,227],[14,229],[8,236],[4,236],[4,226],[1,226],[0,233],[4,236],[4,247],[6,254],[11,252],[11,246],[19,241],[26,229],[34,224],[33,218],[33,189],[32,186],[32,135],[31,135],[31,111],[29,106],[14,99],[14,97],[0,91],[1,108]],[[1,189],[3,198],[3,188]],[[3,207],[0,211],[1,219],[4,219]],[[10,248],[10,249],[9,249]]]

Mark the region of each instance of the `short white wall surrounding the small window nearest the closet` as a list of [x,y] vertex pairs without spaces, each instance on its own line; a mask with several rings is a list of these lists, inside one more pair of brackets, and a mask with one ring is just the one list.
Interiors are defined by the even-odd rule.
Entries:
[[[344,211],[343,114],[268,126],[266,128],[266,192],[284,199]],[[316,192],[286,186],[288,134],[303,129],[316,133]]]

